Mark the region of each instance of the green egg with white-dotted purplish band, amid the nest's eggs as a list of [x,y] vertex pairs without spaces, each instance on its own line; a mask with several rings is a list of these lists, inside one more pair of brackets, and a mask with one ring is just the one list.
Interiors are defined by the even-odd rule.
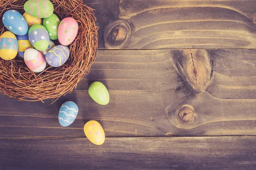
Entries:
[[42,25],[33,25],[29,28],[29,40],[35,49],[44,51],[49,46],[49,35]]

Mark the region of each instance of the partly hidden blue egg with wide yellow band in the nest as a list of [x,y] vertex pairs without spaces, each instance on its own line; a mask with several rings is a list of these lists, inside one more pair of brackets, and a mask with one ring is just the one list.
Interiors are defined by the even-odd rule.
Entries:
[[28,48],[33,48],[33,45],[29,41],[29,35],[16,35],[18,41],[18,54],[24,58],[24,52]]

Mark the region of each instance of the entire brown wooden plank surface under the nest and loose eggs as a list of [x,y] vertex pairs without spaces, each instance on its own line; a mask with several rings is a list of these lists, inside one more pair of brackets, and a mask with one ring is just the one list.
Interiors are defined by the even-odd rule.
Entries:
[[[99,51],[71,94],[0,94],[0,170],[255,170],[256,0],[84,0]],[[106,85],[108,105],[88,94]],[[79,106],[62,127],[63,102]],[[83,127],[97,120],[105,143]]]

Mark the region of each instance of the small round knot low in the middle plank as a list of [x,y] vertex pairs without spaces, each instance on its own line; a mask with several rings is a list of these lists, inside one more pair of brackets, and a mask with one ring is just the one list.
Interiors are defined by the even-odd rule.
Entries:
[[183,105],[178,111],[178,119],[182,123],[189,123],[195,119],[195,109],[190,105]]

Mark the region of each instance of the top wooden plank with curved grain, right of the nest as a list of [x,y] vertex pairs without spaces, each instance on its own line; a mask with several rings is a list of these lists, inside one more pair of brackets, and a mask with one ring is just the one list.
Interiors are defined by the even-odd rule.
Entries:
[[256,48],[255,0],[84,0],[99,48]]

